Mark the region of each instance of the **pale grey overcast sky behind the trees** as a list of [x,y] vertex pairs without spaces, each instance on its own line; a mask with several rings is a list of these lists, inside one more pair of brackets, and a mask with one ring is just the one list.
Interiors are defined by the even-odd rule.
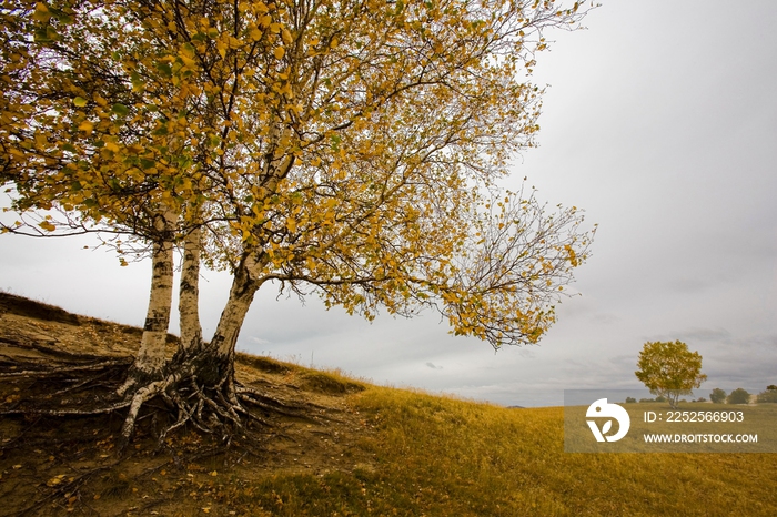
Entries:
[[[699,395],[777,384],[777,2],[605,0],[585,24],[547,34],[541,148],[514,166],[514,186],[526,175],[539,199],[598,223],[582,296],[557,307],[538,346],[495,354],[431,312],[369,324],[269,288],[239,348],[504,405],[638,388],[647,341],[702,354]],[[119,267],[85,244],[0,236],[0,288],[142,325],[150,263]],[[205,273],[205,335],[229,284]]]

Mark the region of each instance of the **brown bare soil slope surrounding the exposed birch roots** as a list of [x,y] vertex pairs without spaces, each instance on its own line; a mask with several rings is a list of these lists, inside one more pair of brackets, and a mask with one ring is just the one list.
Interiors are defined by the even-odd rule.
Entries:
[[[371,468],[359,447],[371,430],[349,401],[362,385],[248,354],[238,355],[238,379],[280,404],[258,409],[270,426],[229,447],[192,428],[160,447],[165,408],[153,405],[121,457],[114,448],[125,410],[12,413],[98,401],[121,382],[140,337],[137,327],[0,293],[0,516],[271,515],[252,498],[269,476]],[[168,342],[172,355],[175,336]],[[23,374],[90,372],[108,359],[114,366],[99,375]]]

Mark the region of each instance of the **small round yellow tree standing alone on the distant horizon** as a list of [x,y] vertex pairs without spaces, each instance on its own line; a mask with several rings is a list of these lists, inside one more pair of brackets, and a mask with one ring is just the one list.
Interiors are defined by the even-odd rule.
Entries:
[[683,342],[647,342],[639,353],[635,375],[650,393],[664,396],[677,408],[680,395],[693,395],[707,376],[702,373],[702,356]]

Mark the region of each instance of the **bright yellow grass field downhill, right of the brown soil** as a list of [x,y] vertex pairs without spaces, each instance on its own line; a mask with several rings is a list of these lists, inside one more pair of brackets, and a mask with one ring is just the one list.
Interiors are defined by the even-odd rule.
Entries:
[[777,515],[775,454],[571,454],[561,407],[505,409],[382,387],[354,404],[379,429],[359,444],[375,454],[374,470],[269,481],[284,501],[275,511]]

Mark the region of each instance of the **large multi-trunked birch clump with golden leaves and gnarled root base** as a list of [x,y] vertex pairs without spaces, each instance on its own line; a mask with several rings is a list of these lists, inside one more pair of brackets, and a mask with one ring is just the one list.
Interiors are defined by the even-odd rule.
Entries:
[[[534,145],[542,92],[525,74],[543,31],[574,27],[582,2],[7,4],[0,165],[14,209],[65,214],[41,234],[150,243],[154,332],[170,250],[185,249],[184,345],[169,363],[163,343],[141,347],[119,389],[124,442],[155,396],[178,408],[169,430],[242,428],[263,395],[235,382],[234,349],[265,284],[367,318],[433,307],[500,348],[538,342],[588,256],[576,207],[547,214],[498,184]],[[201,261],[234,277],[210,342]]]

